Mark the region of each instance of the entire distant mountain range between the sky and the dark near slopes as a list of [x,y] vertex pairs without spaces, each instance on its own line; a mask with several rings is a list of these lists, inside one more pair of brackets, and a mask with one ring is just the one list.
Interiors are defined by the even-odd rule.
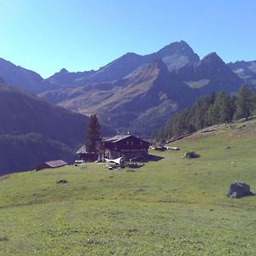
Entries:
[[149,55],[127,53],[97,71],[63,68],[48,79],[2,59],[0,77],[61,107],[96,113],[117,132],[148,136],[200,96],[237,92],[244,83],[254,88],[256,61],[225,64],[216,53],[200,59],[180,41]]

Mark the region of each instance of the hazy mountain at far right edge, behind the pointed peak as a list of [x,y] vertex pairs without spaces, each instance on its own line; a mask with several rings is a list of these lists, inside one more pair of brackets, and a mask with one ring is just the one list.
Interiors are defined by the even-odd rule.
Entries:
[[256,61],[236,61],[228,63],[228,66],[241,78],[245,84],[256,89]]

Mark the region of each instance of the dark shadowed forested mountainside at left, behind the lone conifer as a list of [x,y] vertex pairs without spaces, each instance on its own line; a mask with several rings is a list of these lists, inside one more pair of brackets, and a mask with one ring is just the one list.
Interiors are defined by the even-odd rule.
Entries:
[[45,160],[73,160],[87,123],[84,115],[0,84],[0,175],[34,169]]

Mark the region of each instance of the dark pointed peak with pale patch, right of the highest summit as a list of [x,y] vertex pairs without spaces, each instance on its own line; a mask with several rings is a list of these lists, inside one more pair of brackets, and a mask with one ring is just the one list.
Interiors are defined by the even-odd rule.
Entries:
[[239,90],[242,84],[242,80],[215,52],[206,55],[193,65],[177,69],[173,75],[191,88],[197,89],[200,95],[210,94],[213,91],[234,92]]

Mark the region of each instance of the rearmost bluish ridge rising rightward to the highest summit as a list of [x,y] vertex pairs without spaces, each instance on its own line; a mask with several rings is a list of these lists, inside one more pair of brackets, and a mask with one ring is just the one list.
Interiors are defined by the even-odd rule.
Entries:
[[150,55],[127,53],[97,71],[69,73],[66,69],[61,69],[59,73],[55,73],[46,80],[49,84],[53,85],[53,89],[88,83],[108,82],[122,79],[137,69],[137,67],[148,64],[154,59],[161,59],[166,63],[169,71],[172,71],[199,61],[199,56],[195,54],[189,44],[180,41],[166,45],[163,49]]

